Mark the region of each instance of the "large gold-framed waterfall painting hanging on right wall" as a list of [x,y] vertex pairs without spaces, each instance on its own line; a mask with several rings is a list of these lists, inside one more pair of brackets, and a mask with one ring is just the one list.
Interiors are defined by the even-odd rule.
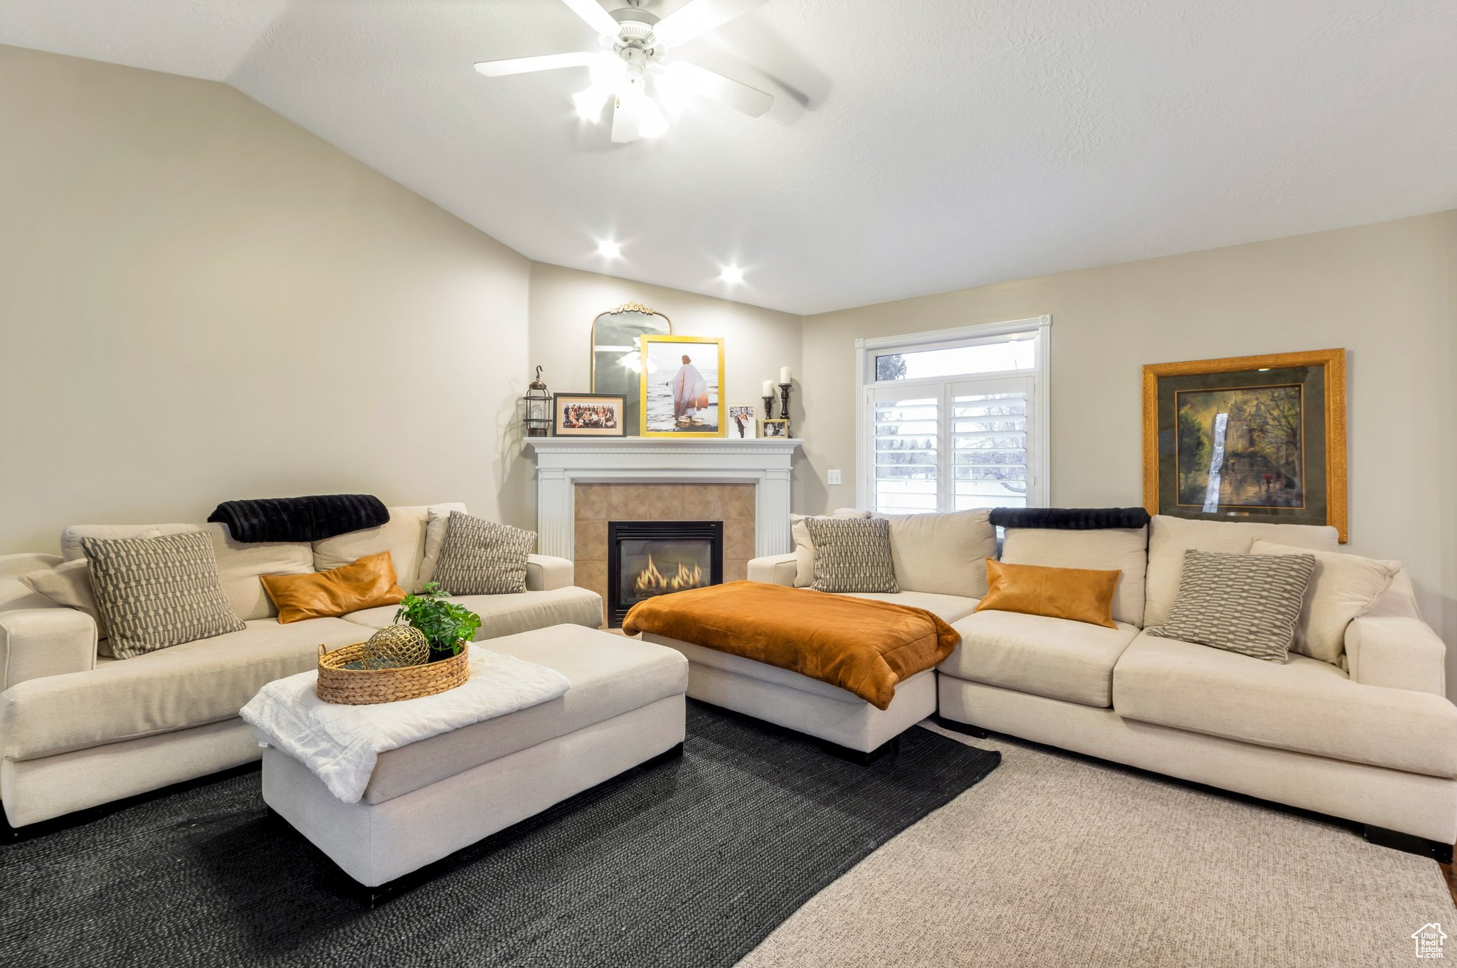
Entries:
[[1144,367],[1144,507],[1346,540],[1346,351]]

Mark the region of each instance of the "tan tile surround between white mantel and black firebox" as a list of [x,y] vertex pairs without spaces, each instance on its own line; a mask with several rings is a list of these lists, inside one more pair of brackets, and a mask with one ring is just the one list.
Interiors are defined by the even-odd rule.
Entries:
[[723,521],[724,581],[755,556],[752,483],[578,483],[573,555],[577,584],[608,597],[608,521]]

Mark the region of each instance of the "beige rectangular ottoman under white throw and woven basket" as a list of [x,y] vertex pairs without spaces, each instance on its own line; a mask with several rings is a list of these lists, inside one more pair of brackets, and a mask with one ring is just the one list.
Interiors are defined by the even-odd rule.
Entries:
[[379,755],[357,804],[302,763],[264,751],[264,801],[351,878],[377,886],[683,742],[688,662],[576,624],[491,639],[551,667],[558,699]]

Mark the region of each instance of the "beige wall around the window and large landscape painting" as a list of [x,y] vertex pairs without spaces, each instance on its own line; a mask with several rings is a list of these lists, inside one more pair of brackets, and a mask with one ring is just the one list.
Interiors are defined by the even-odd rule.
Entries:
[[1064,507],[1142,504],[1142,364],[1345,346],[1349,550],[1405,560],[1457,645],[1457,211],[809,316],[796,508],[857,502],[855,338],[1043,313]]

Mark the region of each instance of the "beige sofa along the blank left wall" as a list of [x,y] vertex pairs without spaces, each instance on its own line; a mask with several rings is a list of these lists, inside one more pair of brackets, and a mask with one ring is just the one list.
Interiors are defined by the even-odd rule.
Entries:
[[[280,624],[259,575],[325,571],[389,550],[399,585],[430,578],[444,539],[430,507],[390,508],[377,528],[322,541],[240,544],[221,524],[76,525],[61,556],[0,556],[0,801],[13,827],[205,776],[259,758],[237,710],[271,680],[313,668],[393,620],[395,606]],[[437,517],[437,520],[440,520]],[[96,622],[19,576],[82,558],[83,537],[150,537],[203,528],[229,603],[246,629],[130,659],[98,655]],[[460,595],[482,617],[476,639],[571,623],[597,627],[602,598],[573,584],[571,562],[533,555],[527,591]]]

